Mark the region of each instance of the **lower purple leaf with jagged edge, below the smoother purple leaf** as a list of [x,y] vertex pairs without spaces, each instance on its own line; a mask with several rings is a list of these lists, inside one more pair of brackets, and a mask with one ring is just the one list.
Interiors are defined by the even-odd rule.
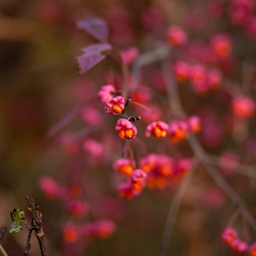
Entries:
[[88,47],[84,47],[82,51],[85,53],[76,58],[79,67],[81,67],[79,74],[84,74],[94,65],[102,61],[106,56],[104,56],[101,52],[108,51],[110,49],[111,45],[109,44],[92,44]]

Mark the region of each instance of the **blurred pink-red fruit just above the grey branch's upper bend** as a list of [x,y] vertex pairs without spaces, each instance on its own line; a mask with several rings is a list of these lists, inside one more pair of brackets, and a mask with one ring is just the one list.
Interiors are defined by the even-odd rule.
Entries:
[[186,44],[188,41],[187,35],[179,26],[171,26],[167,31],[168,43],[173,46]]

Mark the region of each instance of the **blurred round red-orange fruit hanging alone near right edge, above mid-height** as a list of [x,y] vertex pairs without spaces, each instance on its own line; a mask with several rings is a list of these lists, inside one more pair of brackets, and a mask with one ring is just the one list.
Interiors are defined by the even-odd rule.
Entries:
[[236,116],[249,118],[255,113],[255,103],[250,97],[239,96],[232,101],[232,110]]

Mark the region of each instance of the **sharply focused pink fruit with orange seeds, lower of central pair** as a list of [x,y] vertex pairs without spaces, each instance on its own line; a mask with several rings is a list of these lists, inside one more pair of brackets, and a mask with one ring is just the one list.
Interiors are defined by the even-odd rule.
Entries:
[[125,118],[117,121],[115,130],[119,132],[120,138],[127,138],[127,140],[134,140],[138,133],[137,128]]

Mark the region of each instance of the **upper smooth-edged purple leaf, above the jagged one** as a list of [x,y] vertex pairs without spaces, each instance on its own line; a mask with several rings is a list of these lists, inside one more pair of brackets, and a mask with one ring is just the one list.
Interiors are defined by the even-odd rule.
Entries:
[[77,28],[83,29],[102,43],[108,42],[108,25],[104,19],[88,18],[77,22]]

